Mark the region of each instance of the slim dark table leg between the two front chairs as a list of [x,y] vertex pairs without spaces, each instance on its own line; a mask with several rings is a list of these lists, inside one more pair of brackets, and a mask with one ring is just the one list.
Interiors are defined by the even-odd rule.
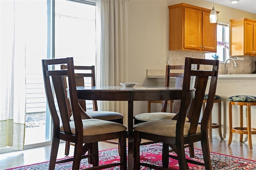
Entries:
[[128,170],[133,169],[133,101],[128,101]]

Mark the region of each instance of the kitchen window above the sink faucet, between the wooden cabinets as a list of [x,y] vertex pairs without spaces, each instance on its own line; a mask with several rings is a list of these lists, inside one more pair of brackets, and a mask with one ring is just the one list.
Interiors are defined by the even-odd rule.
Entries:
[[[229,26],[228,24],[217,24],[217,53],[220,61],[229,58]],[[205,59],[214,59],[215,53],[206,53]]]

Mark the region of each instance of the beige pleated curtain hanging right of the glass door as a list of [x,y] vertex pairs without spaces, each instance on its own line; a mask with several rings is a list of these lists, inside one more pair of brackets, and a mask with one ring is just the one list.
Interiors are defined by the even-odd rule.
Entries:
[[[128,81],[128,0],[96,1],[98,85]],[[100,70],[100,72],[99,72]],[[102,102],[102,109],[127,114],[127,102]],[[126,116],[124,122],[127,122]]]

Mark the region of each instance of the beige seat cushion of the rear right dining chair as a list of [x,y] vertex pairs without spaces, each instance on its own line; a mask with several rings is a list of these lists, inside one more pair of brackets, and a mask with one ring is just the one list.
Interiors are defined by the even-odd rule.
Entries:
[[[134,116],[134,119],[140,121],[158,121],[163,119],[172,119],[176,113],[165,113],[165,112],[156,112],[156,113],[141,113]],[[188,118],[186,117],[186,122],[188,122]]]

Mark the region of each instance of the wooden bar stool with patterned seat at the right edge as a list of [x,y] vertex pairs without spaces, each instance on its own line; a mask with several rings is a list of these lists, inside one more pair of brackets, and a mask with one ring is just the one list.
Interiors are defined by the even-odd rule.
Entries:
[[[256,128],[251,127],[251,106],[256,106],[256,97],[240,95],[229,97],[229,138],[228,145],[232,142],[232,133],[240,134],[240,142],[243,142],[243,134],[248,134],[249,148],[252,149],[252,134],[256,134]],[[239,105],[240,109],[240,127],[232,126],[232,105]],[[247,127],[243,126],[243,106],[247,106]]]

